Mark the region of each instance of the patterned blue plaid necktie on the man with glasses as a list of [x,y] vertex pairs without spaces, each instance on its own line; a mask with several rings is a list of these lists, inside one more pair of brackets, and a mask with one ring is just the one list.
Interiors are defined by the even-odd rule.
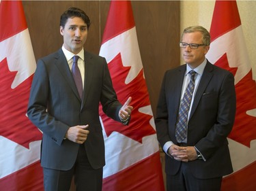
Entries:
[[188,121],[188,111],[190,108],[190,103],[192,95],[195,88],[195,74],[196,72],[191,70],[190,72],[190,82],[184,93],[182,103],[180,104],[179,116],[177,117],[177,124],[175,129],[175,137],[178,143],[181,143],[186,138],[186,124]]

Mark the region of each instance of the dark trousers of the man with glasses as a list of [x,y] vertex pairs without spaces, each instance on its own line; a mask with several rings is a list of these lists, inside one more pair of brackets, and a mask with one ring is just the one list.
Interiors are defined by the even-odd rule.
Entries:
[[176,175],[167,175],[167,191],[220,191],[222,179],[197,179],[188,169],[187,163],[182,162]]

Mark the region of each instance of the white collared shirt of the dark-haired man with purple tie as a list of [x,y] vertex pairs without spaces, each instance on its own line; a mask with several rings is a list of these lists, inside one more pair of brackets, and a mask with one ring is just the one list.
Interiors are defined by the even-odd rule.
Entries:
[[82,49],[79,54],[73,54],[72,52],[66,50],[64,46],[62,46],[62,51],[66,56],[66,60],[68,62],[68,66],[70,67],[70,71],[72,70],[72,65],[73,65],[73,56],[77,55],[79,56],[79,60],[77,61],[77,65],[79,66],[79,70],[81,73],[82,77],[82,82],[83,82],[83,87],[85,85],[85,55],[84,55],[84,50]]

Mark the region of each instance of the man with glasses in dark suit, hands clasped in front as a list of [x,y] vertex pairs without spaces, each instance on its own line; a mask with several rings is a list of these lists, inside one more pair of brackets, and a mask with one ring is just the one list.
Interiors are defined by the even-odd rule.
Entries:
[[234,77],[205,58],[210,33],[203,27],[184,29],[180,47],[186,65],[165,73],[155,119],[167,190],[221,190],[223,175],[233,171],[227,136],[236,114]]

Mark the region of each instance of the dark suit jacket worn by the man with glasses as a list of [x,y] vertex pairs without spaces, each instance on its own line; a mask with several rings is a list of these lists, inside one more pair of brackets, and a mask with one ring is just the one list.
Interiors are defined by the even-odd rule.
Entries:
[[[186,65],[165,73],[156,111],[156,131],[163,147],[167,141],[177,143],[175,124]],[[233,75],[207,63],[195,94],[188,120],[188,145],[196,146],[206,161],[188,162],[191,173],[197,178],[212,178],[233,171],[227,135],[231,132],[236,114],[236,92]],[[174,175],[181,162],[165,157],[168,174]]]

